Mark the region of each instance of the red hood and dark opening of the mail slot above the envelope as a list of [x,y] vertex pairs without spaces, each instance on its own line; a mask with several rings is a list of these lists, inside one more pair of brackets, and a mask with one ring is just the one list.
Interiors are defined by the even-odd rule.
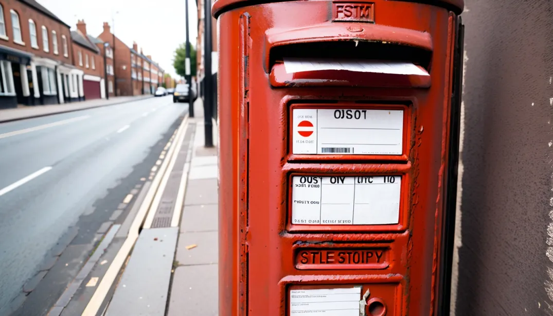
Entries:
[[432,56],[429,33],[378,24],[321,23],[265,32],[265,71],[286,57],[409,60],[425,69]]

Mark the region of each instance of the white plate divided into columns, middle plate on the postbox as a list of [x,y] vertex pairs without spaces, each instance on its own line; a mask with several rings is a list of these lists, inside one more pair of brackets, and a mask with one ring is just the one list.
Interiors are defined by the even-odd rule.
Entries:
[[401,176],[292,177],[292,224],[399,223]]

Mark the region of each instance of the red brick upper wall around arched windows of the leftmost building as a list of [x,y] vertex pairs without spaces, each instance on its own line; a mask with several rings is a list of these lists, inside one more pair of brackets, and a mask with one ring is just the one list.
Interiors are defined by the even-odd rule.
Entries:
[[[36,56],[50,58],[62,61],[65,64],[72,64],[71,56],[71,35],[69,33],[69,27],[66,25],[44,15],[42,12],[37,11],[32,7],[26,6],[24,3],[19,2],[18,0],[0,0],[0,4],[4,9],[4,22],[6,23],[6,33],[8,40],[0,39],[0,45],[8,46],[14,49],[28,51]],[[13,42],[13,29],[12,29],[12,18],[10,10],[13,9],[19,15],[19,24],[21,27],[21,37],[25,46],[15,44]],[[34,49],[31,47],[31,39],[29,34],[29,19],[32,19],[36,25],[36,41],[39,49]],[[42,38],[42,26],[45,26],[48,29],[48,46],[49,52],[46,53],[43,48],[43,38]],[[52,31],[56,31],[56,37],[58,37],[58,55],[54,54],[53,44],[52,44]],[[65,35],[67,39],[67,57],[64,56],[63,42],[61,40],[61,35]]]

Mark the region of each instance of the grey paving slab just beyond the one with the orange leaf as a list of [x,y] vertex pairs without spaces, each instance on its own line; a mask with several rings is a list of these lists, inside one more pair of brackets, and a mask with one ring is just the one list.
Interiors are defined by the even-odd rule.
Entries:
[[182,211],[181,232],[217,231],[219,227],[219,205],[188,205]]

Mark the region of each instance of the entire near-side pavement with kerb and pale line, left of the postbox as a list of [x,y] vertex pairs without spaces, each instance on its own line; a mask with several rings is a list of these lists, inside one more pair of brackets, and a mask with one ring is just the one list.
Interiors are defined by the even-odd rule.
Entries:
[[[218,314],[217,149],[204,148],[201,100],[195,102],[195,113],[196,118],[187,121],[186,133],[181,138],[177,133],[173,141],[178,154],[165,172],[166,183],[155,193],[159,199],[144,200],[140,206],[149,211],[119,275],[113,278],[112,266],[126,252],[121,253],[124,247],[116,238],[99,258],[113,262],[112,266],[96,265],[84,279],[93,285],[81,286],[62,316],[102,311],[107,316]],[[165,214],[172,217],[170,224],[163,220]],[[104,281],[112,284],[111,289]],[[52,309],[50,315],[60,311]]]

